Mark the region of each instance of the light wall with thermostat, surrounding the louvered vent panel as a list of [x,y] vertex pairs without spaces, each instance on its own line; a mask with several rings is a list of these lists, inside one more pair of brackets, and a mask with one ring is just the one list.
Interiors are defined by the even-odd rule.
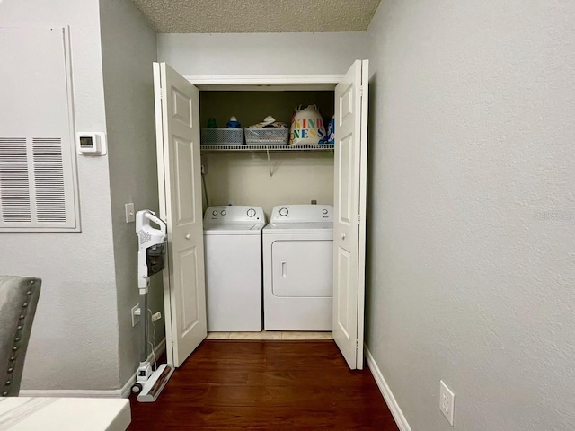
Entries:
[[[2,26],[70,25],[76,130],[106,130],[98,16],[97,0],[0,3]],[[119,387],[108,158],[77,169],[82,233],[2,234],[0,273],[42,278],[22,390]]]

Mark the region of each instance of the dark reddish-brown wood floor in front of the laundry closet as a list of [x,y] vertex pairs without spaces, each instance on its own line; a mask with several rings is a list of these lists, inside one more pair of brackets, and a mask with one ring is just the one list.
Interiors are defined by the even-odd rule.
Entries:
[[132,396],[136,430],[397,431],[369,370],[332,341],[206,340],[154,403]]

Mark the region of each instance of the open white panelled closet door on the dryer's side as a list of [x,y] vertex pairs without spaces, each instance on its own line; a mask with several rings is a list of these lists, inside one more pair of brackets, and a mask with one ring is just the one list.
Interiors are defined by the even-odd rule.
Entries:
[[349,368],[363,368],[368,61],[335,87],[333,339]]

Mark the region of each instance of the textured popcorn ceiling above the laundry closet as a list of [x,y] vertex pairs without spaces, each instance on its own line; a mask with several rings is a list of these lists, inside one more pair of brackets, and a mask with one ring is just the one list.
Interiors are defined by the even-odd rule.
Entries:
[[365,31],[380,0],[133,0],[160,33]]

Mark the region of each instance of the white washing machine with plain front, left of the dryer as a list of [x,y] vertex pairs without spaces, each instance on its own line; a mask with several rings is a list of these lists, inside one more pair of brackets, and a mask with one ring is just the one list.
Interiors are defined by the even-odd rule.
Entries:
[[261,331],[261,207],[208,207],[204,216],[208,331]]

